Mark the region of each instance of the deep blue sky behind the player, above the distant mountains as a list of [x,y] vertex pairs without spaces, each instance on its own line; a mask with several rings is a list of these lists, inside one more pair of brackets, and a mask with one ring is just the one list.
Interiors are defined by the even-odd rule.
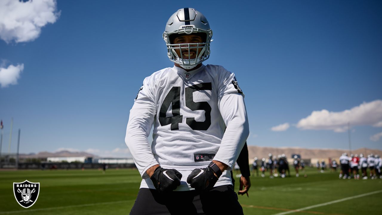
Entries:
[[[43,6],[31,12],[37,33],[0,28],[0,83],[1,72],[20,72],[0,88],[3,152],[13,117],[13,152],[20,128],[22,153],[128,155],[129,110],[143,79],[172,67],[162,33],[183,7],[214,31],[206,64],[237,76],[249,145],[348,148],[349,121],[353,149],[382,150],[380,1],[68,0],[50,4],[50,17],[39,16]],[[8,24],[1,13],[28,21],[3,7]]]

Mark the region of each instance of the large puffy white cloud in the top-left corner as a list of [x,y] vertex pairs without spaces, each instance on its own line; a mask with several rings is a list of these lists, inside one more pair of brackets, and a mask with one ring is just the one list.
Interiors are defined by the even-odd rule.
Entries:
[[56,0],[1,0],[0,38],[6,43],[32,41],[42,27],[55,23],[59,16]]

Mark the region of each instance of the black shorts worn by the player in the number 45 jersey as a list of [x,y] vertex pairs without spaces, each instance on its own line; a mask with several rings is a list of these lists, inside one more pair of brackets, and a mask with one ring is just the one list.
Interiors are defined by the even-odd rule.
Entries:
[[[227,207],[221,207],[226,205]],[[199,193],[196,191],[172,191],[159,194],[157,190],[141,188],[131,208],[131,215],[172,214],[243,214],[238,196],[232,185],[214,187]]]

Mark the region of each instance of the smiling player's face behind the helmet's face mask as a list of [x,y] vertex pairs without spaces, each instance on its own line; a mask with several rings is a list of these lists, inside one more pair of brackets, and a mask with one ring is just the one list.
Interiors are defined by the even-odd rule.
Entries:
[[[176,37],[174,39],[174,44],[187,44],[187,43],[201,43],[204,42],[202,37],[194,35],[194,34],[183,34],[179,37]],[[190,45],[191,47],[196,47],[195,45]],[[202,48],[199,49],[190,49],[188,52],[188,45],[184,45],[181,47],[187,47],[187,49],[175,49],[176,54],[178,54],[179,57],[183,57],[183,59],[195,59],[196,58],[196,52],[199,55],[202,51]]]

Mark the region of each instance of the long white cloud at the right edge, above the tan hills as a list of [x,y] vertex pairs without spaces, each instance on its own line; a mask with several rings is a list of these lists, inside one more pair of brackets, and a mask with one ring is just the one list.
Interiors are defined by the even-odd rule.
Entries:
[[333,130],[345,132],[350,125],[374,125],[379,127],[382,121],[382,100],[364,102],[350,110],[330,112],[328,110],[313,111],[301,119],[296,127],[300,129]]

